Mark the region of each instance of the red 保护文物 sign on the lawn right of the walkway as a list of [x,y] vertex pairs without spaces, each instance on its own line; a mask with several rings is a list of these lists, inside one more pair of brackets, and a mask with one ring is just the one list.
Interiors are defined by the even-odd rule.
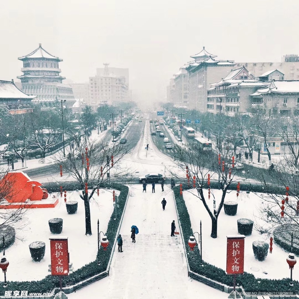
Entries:
[[227,236],[226,274],[244,273],[244,235]]

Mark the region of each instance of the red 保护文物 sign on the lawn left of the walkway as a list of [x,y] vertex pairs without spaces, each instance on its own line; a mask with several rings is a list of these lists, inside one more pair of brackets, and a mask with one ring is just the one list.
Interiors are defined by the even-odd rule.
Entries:
[[51,274],[68,275],[68,239],[50,239],[51,248]]

